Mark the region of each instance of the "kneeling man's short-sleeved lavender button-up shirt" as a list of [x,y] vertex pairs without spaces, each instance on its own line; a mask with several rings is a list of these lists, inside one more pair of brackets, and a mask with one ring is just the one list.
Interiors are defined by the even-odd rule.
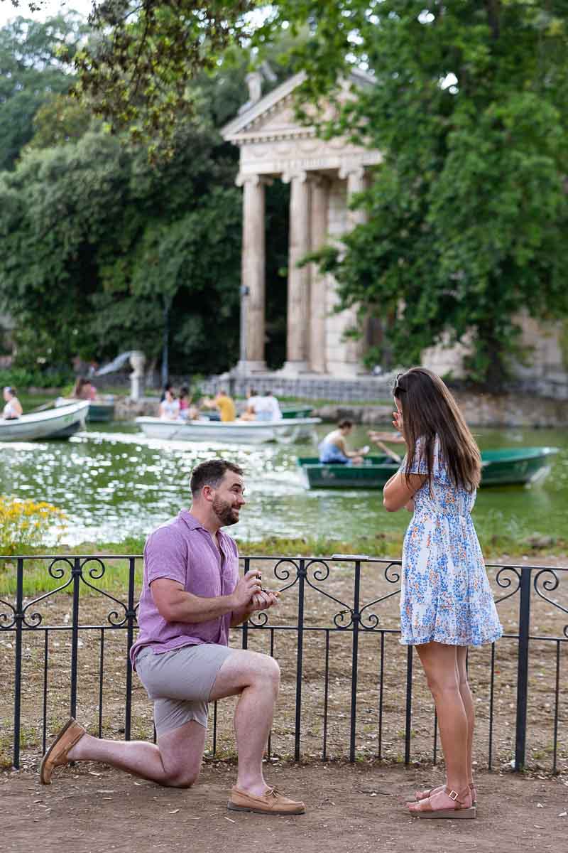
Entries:
[[202,598],[231,595],[238,582],[237,544],[221,531],[217,538],[221,553],[209,531],[188,510],[182,510],[146,539],[144,585],[138,611],[140,634],[130,649],[134,667],[136,655],[146,646],[159,654],[198,643],[228,645],[231,613],[197,624],[166,622],[150,589],[152,581],[168,577],[181,583],[186,592]]

